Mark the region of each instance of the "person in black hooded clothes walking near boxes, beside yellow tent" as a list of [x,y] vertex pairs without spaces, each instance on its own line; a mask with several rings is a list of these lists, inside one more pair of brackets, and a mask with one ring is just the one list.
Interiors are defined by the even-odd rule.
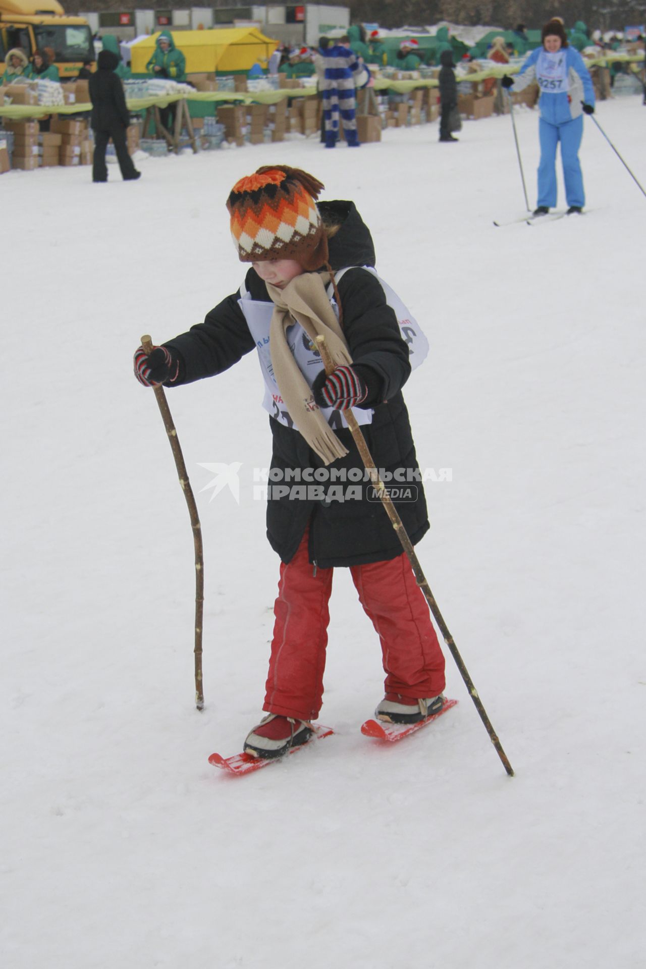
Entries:
[[108,181],[106,148],[110,138],[124,181],[131,181],[141,174],[135,168],[126,145],[126,129],[130,124],[130,113],[126,107],[121,81],[114,74],[118,63],[119,58],[116,54],[111,50],[102,50],[97,60],[97,71],[89,78],[92,102],[91,125],[94,130],[92,181]]

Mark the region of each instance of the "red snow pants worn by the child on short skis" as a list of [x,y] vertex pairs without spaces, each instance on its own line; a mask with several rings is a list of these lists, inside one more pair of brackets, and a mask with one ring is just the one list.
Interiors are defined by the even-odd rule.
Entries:
[[[382,642],[385,692],[411,700],[445,688],[445,657],[424,594],[406,553],[388,562],[352,566],[354,587]],[[308,556],[308,529],[287,565],[282,562],[274,633],[262,709],[316,720],[323,701],[327,604],[333,569]]]

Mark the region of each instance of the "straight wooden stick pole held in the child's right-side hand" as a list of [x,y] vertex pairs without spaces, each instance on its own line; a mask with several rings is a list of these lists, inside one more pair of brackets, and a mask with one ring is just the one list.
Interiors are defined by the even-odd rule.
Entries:
[[[335,364],[332,358],[330,357],[329,351],[327,349],[327,345],[325,343],[325,337],[317,336],[316,342],[319,348],[319,352],[321,354],[321,359],[323,360],[323,364],[325,366],[325,373],[330,374],[334,370]],[[433,617],[437,622],[440,628],[440,631],[444,637],[444,640],[446,642],[446,645],[448,646],[451,652],[451,656],[455,660],[457,668],[460,671],[460,675],[462,676],[462,679],[464,680],[466,687],[469,690],[471,699],[476,705],[476,709],[477,709],[477,712],[479,713],[480,720],[484,724],[487,734],[489,735],[491,742],[496,748],[496,752],[500,757],[501,761],[503,762],[503,766],[507,770],[509,777],[512,777],[513,769],[508,762],[507,754],[503,750],[502,744],[498,739],[498,736],[496,735],[493,729],[491,721],[487,716],[486,710],[484,709],[484,706],[480,701],[480,698],[477,694],[477,689],[474,686],[474,681],[472,680],[471,676],[469,675],[469,671],[464,665],[464,661],[460,656],[460,653],[458,652],[457,646],[453,641],[453,637],[448,632],[448,627],[446,626],[444,616],[442,615],[442,612],[438,609],[438,604],[436,603],[433,593],[431,592],[431,589],[429,587],[429,584],[426,581],[424,573],[421,570],[419,559],[415,555],[415,549],[411,543],[411,539],[409,538],[407,531],[404,528],[402,519],[399,517],[399,513],[397,512],[397,509],[392,503],[392,499],[390,495],[385,489],[384,482],[379,477],[379,471],[375,467],[375,462],[372,458],[371,453],[368,450],[368,445],[365,442],[365,438],[361,432],[361,428],[357,424],[356,418],[354,417],[352,410],[349,409],[347,411],[343,411],[343,415],[346,421],[348,422],[348,426],[350,427],[351,433],[354,438],[354,444],[358,448],[358,452],[361,455],[363,464],[365,465],[366,471],[370,476],[370,481],[372,482],[375,490],[379,494],[379,497],[382,500],[382,504],[384,505],[385,512],[387,516],[390,518],[390,521],[392,522],[392,527],[397,532],[397,537],[401,542],[401,545],[404,551],[408,555],[411,566],[413,567],[413,572],[415,574],[415,581],[417,582],[417,585],[423,592],[424,598],[428,603],[429,609],[433,613]]]

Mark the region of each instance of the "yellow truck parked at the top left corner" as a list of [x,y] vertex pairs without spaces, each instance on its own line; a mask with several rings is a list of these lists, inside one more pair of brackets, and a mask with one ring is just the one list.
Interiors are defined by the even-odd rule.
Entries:
[[0,0],[0,76],[12,47],[21,47],[27,57],[37,47],[50,47],[61,80],[76,78],[83,60],[95,59],[87,20],[66,16],[57,0]]

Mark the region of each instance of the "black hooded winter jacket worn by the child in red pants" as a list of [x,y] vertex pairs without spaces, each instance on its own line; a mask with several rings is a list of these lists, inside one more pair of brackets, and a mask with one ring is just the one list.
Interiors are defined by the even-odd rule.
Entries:
[[[319,203],[345,215],[339,232],[329,239],[329,263],[374,266],[375,251],[368,229],[350,202]],[[254,299],[270,302],[265,284],[253,268],[245,285]],[[408,347],[401,337],[394,311],[374,275],[352,268],[338,283],[343,307],[343,328],[354,363],[370,373],[369,397],[361,405],[374,408],[372,423],[362,427],[377,467],[404,477],[415,476],[417,459],[406,404],[401,393],[411,372]],[[179,377],[173,386],[210,377],[228,369],[255,349],[254,339],[238,305],[240,291],[207,313],[204,322],[166,344],[180,359]],[[271,467],[317,469],[318,455],[298,431],[269,418],[273,437]],[[333,469],[358,469],[363,463],[348,428],[336,433],[349,453],[330,465]],[[348,476],[350,481],[352,477]],[[390,484],[395,484],[394,481]],[[344,484],[344,487],[347,483]],[[421,482],[409,485],[409,500],[397,502],[397,510],[415,544],[429,528]],[[360,565],[395,558],[402,547],[372,485],[361,484],[361,498],[350,501],[305,500],[284,497],[267,502],[267,538],[284,562],[289,562],[310,523],[310,561],[321,568]],[[411,500],[412,499],[412,500]]]

